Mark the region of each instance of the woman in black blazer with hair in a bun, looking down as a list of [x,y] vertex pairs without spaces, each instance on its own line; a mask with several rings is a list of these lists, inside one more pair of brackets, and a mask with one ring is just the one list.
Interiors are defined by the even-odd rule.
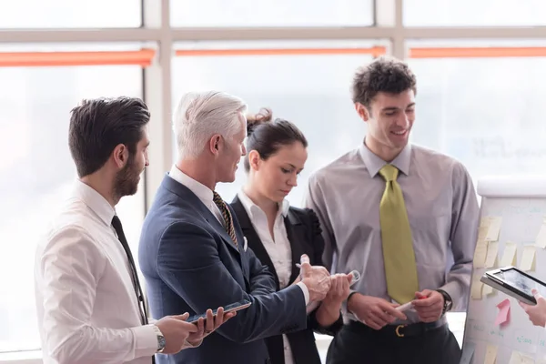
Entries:
[[[271,121],[271,110],[248,115],[246,185],[232,201],[248,247],[277,281],[277,289],[297,283],[299,257],[322,265],[324,240],[319,219],[308,209],[290,207],[285,199],[297,186],[307,160],[308,142],[297,126],[283,119]],[[318,308],[309,307],[308,329],[268,338],[272,364],[319,364],[313,332],[334,335],[343,325],[341,303],[349,295],[350,276],[332,277],[328,296]]]

